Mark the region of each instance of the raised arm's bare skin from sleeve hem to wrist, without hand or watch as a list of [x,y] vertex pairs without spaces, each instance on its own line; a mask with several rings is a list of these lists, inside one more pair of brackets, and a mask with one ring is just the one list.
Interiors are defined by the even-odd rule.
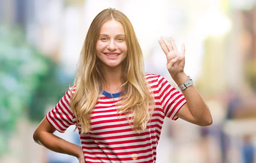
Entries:
[[[172,78],[177,85],[180,85],[188,79],[188,76],[185,73],[181,73],[179,76]],[[211,125],[211,113],[209,112],[207,104],[195,86],[192,84],[181,92],[183,93],[187,103],[182,106],[179,112],[177,112],[176,116],[199,126]]]

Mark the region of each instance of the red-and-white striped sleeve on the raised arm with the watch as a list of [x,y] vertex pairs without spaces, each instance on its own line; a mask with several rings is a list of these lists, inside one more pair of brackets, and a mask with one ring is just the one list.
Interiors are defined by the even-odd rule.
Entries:
[[165,117],[177,120],[177,112],[186,103],[184,95],[162,76],[158,76],[159,94]]

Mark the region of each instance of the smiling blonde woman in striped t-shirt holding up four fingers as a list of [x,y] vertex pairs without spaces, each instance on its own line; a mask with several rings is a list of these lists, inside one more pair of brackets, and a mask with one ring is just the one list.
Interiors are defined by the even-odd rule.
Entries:
[[[212,123],[204,99],[183,69],[185,47],[161,37],[167,69],[181,92],[160,75],[145,74],[130,20],[115,9],[92,21],[73,87],[39,124],[35,142],[79,163],[154,163],[165,117],[199,126]],[[76,125],[82,146],[53,134]]]

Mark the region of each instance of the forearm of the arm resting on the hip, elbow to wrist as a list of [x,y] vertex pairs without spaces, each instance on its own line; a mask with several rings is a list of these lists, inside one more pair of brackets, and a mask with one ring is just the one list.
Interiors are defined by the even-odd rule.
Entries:
[[81,146],[70,143],[49,132],[36,133],[34,135],[34,140],[36,143],[45,146],[47,149],[54,152],[68,154],[77,158],[83,153]]

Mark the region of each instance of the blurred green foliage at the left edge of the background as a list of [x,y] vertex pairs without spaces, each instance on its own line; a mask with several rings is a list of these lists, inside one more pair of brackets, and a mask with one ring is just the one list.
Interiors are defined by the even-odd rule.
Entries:
[[20,117],[39,122],[67,89],[58,64],[26,42],[22,29],[0,26],[0,156]]

